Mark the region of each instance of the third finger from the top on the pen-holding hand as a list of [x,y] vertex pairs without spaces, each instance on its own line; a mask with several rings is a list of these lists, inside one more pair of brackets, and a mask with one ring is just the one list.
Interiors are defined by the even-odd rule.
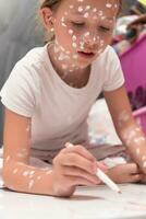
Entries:
[[100,180],[97,178],[96,175],[89,174],[86,171],[83,171],[82,169],[78,168],[73,168],[73,166],[65,166],[62,170],[63,175],[65,176],[77,176],[77,177],[83,177],[94,184],[99,184]]

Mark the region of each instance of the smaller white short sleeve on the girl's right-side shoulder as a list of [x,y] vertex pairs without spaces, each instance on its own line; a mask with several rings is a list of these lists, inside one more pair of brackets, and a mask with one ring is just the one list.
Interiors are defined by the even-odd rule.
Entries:
[[124,84],[124,76],[119,57],[112,47],[109,47],[106,59],[106,76],[102,90],[113,91]]

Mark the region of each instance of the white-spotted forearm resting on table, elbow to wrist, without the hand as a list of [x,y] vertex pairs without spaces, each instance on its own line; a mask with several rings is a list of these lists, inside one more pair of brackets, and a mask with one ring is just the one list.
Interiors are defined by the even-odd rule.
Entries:
[[53,195],[51,170],[21,162],[4,164],[3,178],[8,188],[32,194]]

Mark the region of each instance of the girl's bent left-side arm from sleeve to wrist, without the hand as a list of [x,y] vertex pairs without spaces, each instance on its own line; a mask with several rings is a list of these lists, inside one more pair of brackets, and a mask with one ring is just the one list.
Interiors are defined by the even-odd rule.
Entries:
[[51,195],[50,170],[29,165],[31,118],[5,110],[3,143],[5,186],[19,192]]

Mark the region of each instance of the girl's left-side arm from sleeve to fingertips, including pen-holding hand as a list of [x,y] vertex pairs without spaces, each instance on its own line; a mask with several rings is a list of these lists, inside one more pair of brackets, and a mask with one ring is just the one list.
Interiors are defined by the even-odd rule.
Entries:
[[31,166],[29,151],[31,118],[5,110],[3,178],[8,188],[24,193],[70,196],[77,185],[99,183],[96,176],[99,164],[82,146],[62,149],[53,159],[51,171]]

